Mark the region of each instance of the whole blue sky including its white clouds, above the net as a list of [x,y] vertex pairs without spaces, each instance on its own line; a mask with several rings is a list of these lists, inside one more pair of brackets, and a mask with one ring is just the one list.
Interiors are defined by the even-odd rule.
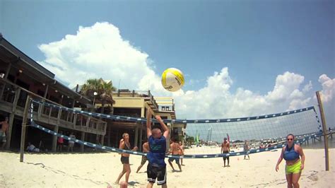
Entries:
[[[183,118],[201,116],[204,106],[191,104],[190,99],[195,95],[210,95],[208,100],[213,104],[216,104],[216,100],[222,100],[222,105],[237,101],[230,104],[236,107],[233,111],[227,109],[217,113],[220,110],[218,107],[215,112],[210,112],[213,116],[208,115],[225,117],[280,112],[314,105],[315,90],[324,90],[325,95],[327,93],[329,98],[325,105],[332,113],[335,95],[334,9],[334,1],[0,0],[0,32],[29,57],[51,69],[64,83],[71,83],[73,78],[66,77],[71,71],[62,74],[57,69],[59,62],[62,66],[71,66],[69,70],[81,69],[83,77],[103,76],[112,79],[115,86],[118,86],[118,78],[124,75],[127,78],[125,70],[136,69],[144,62],[146,69],[142,72],[145,74],[136,74],[138,77],[135,76],[133,80],[123,78],[121,88],[143,89],[144,85],[150,85],[157,95],[171,95],[163,93],[154,80],[164,69],[176,67],[183,71],[186,79],[183,93],[173,94],[176,102],[180,102],[176,105],[180,105],[180,117]],[[122,51],[123,48],[114,46],[121,52],[115,61],[123,60],[122,63],[126,65],[111,63],[114,65],[111,67],[125,66],[123,71],[119,71],[122,75],[117,72],[110,77],[107,73],[93,74],[95,66],[90,65],[91,62],[71,63],[73,59],[70,57],[77,57],[76,54],[82,49],[74,50],[74,54],[59,50],[61,58],[55,53],[56,49],[64,46],[78,48],[71,45],[79,41],[79,27],[90,28],[87,32],[96,34],[80,40],[83,42],[81,44],[86,45],[85,50],[90,50],[87,49],[88,45],[105,41],[102,36],[107,34],[98,35],[96,23],[107,23],[99,26],[101,33],[112,28],[119,30],[119,33],[113,30],[115,35],[107,36],[107,39],[112,41],[113,36],[117,36],[122,47],[129,42],[129,50],[136,51],[134,57],[139,54],[137,60],[121,57],[127,56],[123,52],[128,49]],[[84,35],[84,32],[81,34]],[[66,35],[73,37],[69,39]],[[83,46],[81,44],[76,43],[79,47]],[[113,44],[105,48],[109,47],[114,49]],[[96,52],[101,50],[97,49]],[[108,54],[101,56],[105,55]],[[134,63],[130,63],[133,60]],[[108,61],[102,59],[96,63],[96,66],[107,66]],[[225,67],[228,69],[223,69]],[[322,77],[321,82],[319,77],[323,74],[326,77]],[[144,84],[141,78],[151,81]],[[296,84],[290,84],[287,78],[293,79]],[[136,79],[141,80],[138,85]],[[218,79],[220,81],[216,82]],[[327,84],[322,85],[326,81]],[[285,93],[278,90],[283,88],[287,88],[286,98],[278,95],[275,98],[276,93]],[[221,89],[222,95],[211,96],[211,91],[221,92]],[[289,95],[294,96],[288,99]],[[252,99],[259,102],[253,103]],[[199,105],[197,114],[189,114]],[[331,118],[332,115],[328,116]],[[334,124],[334,117],[331,122]]]

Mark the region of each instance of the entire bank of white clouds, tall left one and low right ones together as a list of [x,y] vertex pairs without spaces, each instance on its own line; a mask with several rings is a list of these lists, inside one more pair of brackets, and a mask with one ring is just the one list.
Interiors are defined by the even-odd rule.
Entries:
[[[110,23],[79,27],[76,35],[40,45],[40,50],[46,57],[40,63],[70,83],[70,87],[88,78],[101,77],[114,81],[116,87],[120,80],[120,88],[150,88],[155,96],[175,98],[177,118],[241,117],[314,105],[309,94],[312,82],[305,83],[304,76],[288,71],[278,75],[273,90],[264,95],[252,92],[252,88],[232,91],[234,81],[227,67],[208,76],[206,86],[199,90],[167,92],[160,85],[160,73],[155,72],[149,55],[124,40],[119,29]],[[189,83],[198,81],[190,78]],[[326,105],[333,104],[330,111],[334,113],[335,79],[322,75],[319,83],[322,84],[322,98]]]

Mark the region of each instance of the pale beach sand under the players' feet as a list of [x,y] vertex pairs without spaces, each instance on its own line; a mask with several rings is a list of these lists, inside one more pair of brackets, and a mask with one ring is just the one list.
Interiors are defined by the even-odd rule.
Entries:
[[[306,161],[300,187],[334,187],[335,149],[329,149],[328,172],[324,149],[304,151]],[[167,164],[167,187],[286,187],[285,161],[279,172],[275,170],[279,155],[280,150],[252,154],[250,160],[230,157],[229,168],[223,168],[222,158],[184,159],[182,172],[172,172]],[[19,153],[0,152],[0,187],[119,187],[113,184],[122,170],[118,153],[25,153],[24,163],[19,158]],[[130,163],[129,187],[146,187],[148,163],[140,173],[136,169],[141,156],[131,155]],[[174,166],[178,169],[177,164]]]

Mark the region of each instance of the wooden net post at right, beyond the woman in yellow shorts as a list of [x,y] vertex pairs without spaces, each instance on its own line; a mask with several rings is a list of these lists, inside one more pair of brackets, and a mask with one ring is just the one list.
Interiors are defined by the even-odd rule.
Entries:
[[316,95],[317,95],[317,103],[319,105],[319,111],[320,111],[321,122],[322,122],[322,134],[324,136],[324,154],[326,156],[326,158],[325,158],[326,171],[329,171],[329,153],[328,153],[328,139],[327,139],[326,118],[324,117],[324,107],[322,105],[322,100],[321,100],[319,91],[316,92]]

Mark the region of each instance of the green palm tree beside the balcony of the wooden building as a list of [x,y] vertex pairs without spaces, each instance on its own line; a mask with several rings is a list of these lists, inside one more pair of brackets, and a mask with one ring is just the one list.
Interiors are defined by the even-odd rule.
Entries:
[[[112,81],[104,81],[102,78],[99,79],[88,79],[81,88],[81,94],[90,98],[91,100],[98,100],[101,102],[100,112],[105,112],[105,104],[107,103],[110,107],[110,114],[113,113],[113,91],[116,88],[113,87]],[[94,105],[94,104],[93,104]],[[110,146],[110,127],[107,126],[107,144]]]

